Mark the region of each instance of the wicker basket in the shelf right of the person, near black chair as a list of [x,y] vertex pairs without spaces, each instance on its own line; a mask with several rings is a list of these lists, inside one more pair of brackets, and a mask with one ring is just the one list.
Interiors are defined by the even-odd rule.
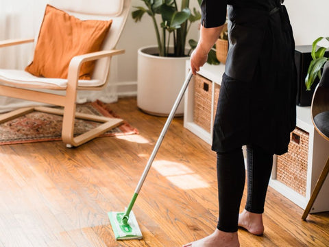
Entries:
[[295,128],[288,152],[278,156],[276,179],[302,196],[306,196],[308,132]]

